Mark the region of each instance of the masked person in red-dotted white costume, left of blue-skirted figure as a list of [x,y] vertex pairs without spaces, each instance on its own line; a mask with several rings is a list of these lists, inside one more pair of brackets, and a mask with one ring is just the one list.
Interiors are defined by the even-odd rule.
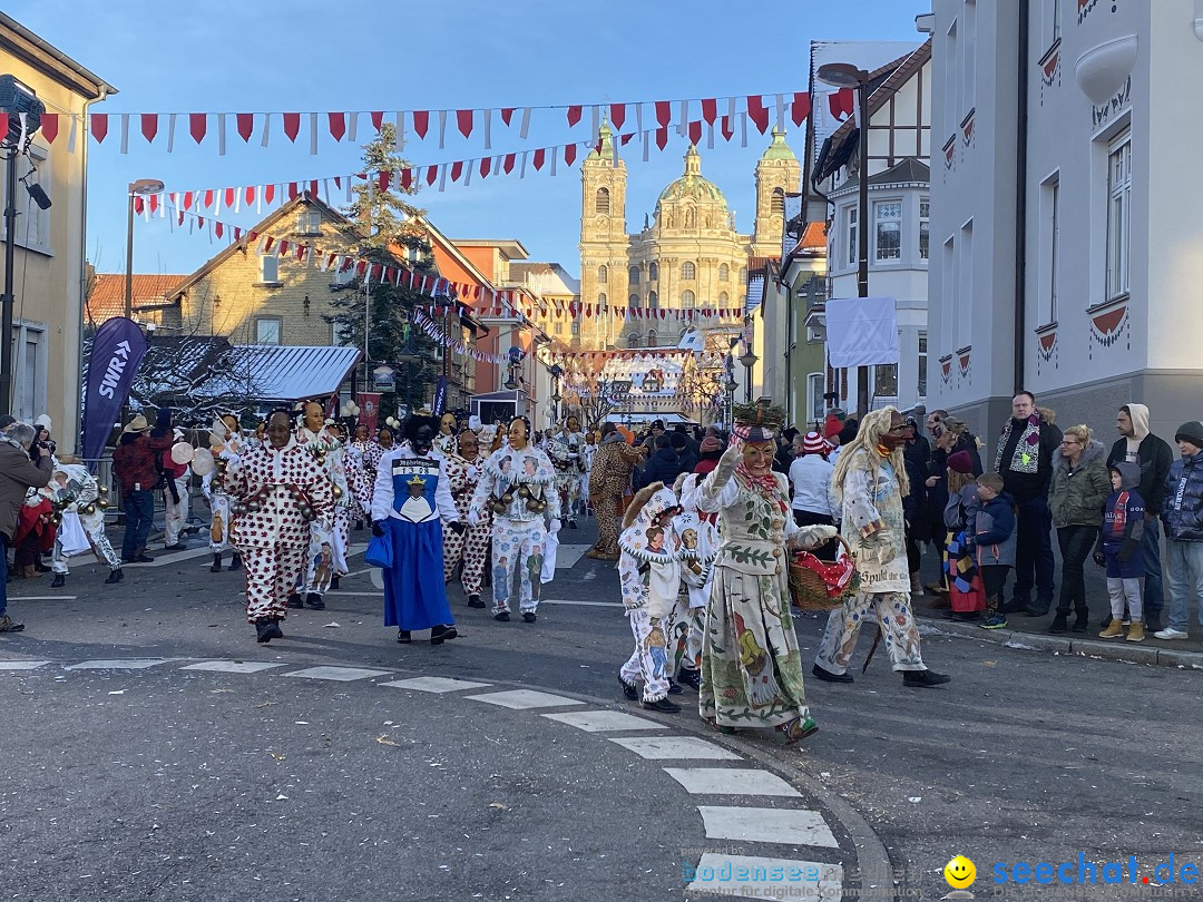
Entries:
[[333,487],[313,455],[289,435],[283,447],[267,441],[233,461],[221,488],[233,499],[231,538],[247,566],[247,619],[260,642],[279,639],[310,536],[328,536]]

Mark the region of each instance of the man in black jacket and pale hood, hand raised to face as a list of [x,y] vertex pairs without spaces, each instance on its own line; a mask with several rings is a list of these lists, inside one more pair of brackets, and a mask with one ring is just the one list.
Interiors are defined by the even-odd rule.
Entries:
[[[1149,432],[1149,408],[1125,404],[1115,417],[1120,438],[1112,445],[1107,465],[1134,463],[1140,468],[1140,498],[1144,499],[1144,622],[1146,633],[1161,629],[1166,605],[1161,584],[1161,509],[1166,502],[1166,476],[1174,452],[1165,439]],[[1108,625],[1107,623],[1103,624]]]

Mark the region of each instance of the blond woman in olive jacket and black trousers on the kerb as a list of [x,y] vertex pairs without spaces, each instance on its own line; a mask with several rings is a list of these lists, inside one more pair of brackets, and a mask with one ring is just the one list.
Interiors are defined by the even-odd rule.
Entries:
[[1061,600],[1049,633],[1065,633],[1072,607],[1074,633],[1086,631],[1086,581],[1081,569],[1095,547],[1103,522],[1103,505],[1112,492],[1103,443],[1086,426],[1065,431],[1061,457],[1053,469],[1049,510],[1061,546]]

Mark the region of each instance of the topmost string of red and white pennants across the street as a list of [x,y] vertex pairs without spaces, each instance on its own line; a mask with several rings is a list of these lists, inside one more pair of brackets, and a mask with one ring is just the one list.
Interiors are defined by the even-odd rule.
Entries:
[[[847,95],[847,96],[846,96]],[[831,114],[840,119],[848,115],[852,108],[852,90],[841,89],[829,95]],[[360,140],[361,127],[371,126],[377,132],[386,120],[396,129],[396,147],[404,148],[410,136],[426,141],[438,140],[438,147],[446,146],[448,137],[460,135],[463,138],[479,136],[484,149],[493,146],[494,124],[500,123],[508,132],[516,131],[526,141],[531,132],[532,118],[535,111],[547,113],[552,119],[556,113],[563,114],[569,129],[589,123],[591,135],[595,135],[604,119],[622,129],[628,121],[635,123],[635,131],[675,127],[680,135],[686,133],[691,117],[700,113],[709,125],[725,121],[733,127],[737,118],[752,121],[760,133],[764,133],[770,120],[777,127],[784,127],[787,117],[794,125],[801,125],[811,109],[811,95],[807,91],[784,91],[776,94],[748,94],[727,97],[693,97],[686,100],[642,100],[621,103],[569,103],[563,106],[510,106],[484,107],[468,109],[397,109],[397,111],[327,111],[327,112],[194,112],[194,113],[103,113],[87,114],[46,112],[41,117],[42,137],[53,143],[64,131],[67,133],[67,147],[73,150],[77,144],[78,130],[87,124],[85,132],[97,144],[103,144],[111,135],[119,142],[120,153],[129,153],[130,140],[141,138],[147,144],[166,147],[167,153],[176,149],[178,141],[191,140],[196,144],[215,142],[219,155],[225,155],[231,141],[241,140],[244,144],[256,138],[261,147],[269,147],[272,141],[288,140],[297,143],[298,138],[309,142],[309,153],[316,154],[319,138],[334,143]],[[585,113],[588,111],[588,117]],[[232,129],[231,129],[232,125]],[[727,127],[724,126],[724,127]]]

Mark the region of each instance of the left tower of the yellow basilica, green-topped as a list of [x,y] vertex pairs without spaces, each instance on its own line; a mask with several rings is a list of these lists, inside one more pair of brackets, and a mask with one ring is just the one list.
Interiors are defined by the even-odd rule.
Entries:
[[598,307],[627,303],[627,164],[617,159],[610,124],[602,123],[598,147],[581,164],[581,314],[573,327],[574,345],[600,350],[610,342],[610,311]]

